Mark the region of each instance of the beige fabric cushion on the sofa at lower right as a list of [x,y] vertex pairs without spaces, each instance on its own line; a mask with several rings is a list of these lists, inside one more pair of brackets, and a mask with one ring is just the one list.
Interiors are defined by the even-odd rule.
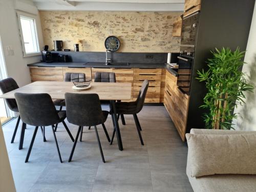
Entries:
[[186,134],[186,139],[191,177],[256,174],[256,134]]

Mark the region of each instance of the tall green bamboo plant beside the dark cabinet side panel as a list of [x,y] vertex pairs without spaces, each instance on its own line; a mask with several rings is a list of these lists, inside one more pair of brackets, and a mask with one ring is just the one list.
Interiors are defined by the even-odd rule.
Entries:
[[230,130],[232,119],[238,118],[234,108],[244,103],[244,92],[252,92],[254,87],[241,71],[245,52],[239,48],[235,51],[222,48],[211,53],[213,58],[208,59],[208,70],[198,71],[197,79],[205,82],[208,91],[200,107],[208,110],[204,114],[206,129]]

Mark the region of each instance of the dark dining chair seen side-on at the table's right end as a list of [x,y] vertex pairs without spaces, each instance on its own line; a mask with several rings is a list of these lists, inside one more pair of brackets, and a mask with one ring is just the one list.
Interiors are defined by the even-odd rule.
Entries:
[[[140,131],[142,129],[141,129],[140,122],[139,122],[139,119],[137,117],[137,114],[143,108],[147,88],[148,88],[148,80],[144,80],[136,101],[133,101],[133,102],[116,102],[116,112],[117,112],[117,114],[133,115],[134,121],[135,121],[135,124],[136,124],[136,127],[137,127],[137,131],[138,131],[138,134],[139,134],[140,142],[141,142],[142,145],[144,145],[143,140],[142,140],[142,136],[141,136],[141,133],[140,133]],[[115,137],[115,132],[116,131],[114,129],[110,144],[113,143],[113,140],[114,140],[114,137]]]

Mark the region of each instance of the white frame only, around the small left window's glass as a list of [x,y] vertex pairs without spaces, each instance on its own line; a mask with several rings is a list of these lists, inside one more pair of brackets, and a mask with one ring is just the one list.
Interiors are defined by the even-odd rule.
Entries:
[[[18,29],[19,29],[20,41],[22,43],[23,56],[24,57],[31,57],[31,56],[41,55],[41,51],[40,51],[40,48],[39,48],[38,32],[37,32],[38,31],[37,30],[37,16],[33,15],[33,14],[25,13],[25,12],[19,12],[19,11],[16,11],[16,14],[17,14],[17,20],[18,20]],[[26,53],[25,42],[24,42],[23,31],[22,31],[22,25],[21,25],[21,22],[20,22],[20,17],[27,17],[29,19],[34,20],[35,40],[36,40],[36,45],[37,45],[37,50],[38,50],[37,52]]]

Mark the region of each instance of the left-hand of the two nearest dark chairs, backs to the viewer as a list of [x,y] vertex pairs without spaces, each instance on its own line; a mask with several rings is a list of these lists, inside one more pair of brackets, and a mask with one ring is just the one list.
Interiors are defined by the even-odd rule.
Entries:
[[[67,124],[65,123],[66,111],[56,111],[53,104],[52,98],[47,93],[39,94],[26,94],[26,93],[15,93],[15,99],[17,101],[19,115],[22,121],[26,124],[35,126],[35,131],[29,146],[28,154],[25,163],[28,162],[29,156],[33,147],[35,136],[38,130],[38,126],[52,126],[53,136],[57,146],[59,160],[62,163],[62,159],[59,152],[59,146],[54,132],[53,125],[62,122],[65,126],[71,140],[74,142],[74,138],[69,131]],[[45,136],[45,129],[44,129]]]

